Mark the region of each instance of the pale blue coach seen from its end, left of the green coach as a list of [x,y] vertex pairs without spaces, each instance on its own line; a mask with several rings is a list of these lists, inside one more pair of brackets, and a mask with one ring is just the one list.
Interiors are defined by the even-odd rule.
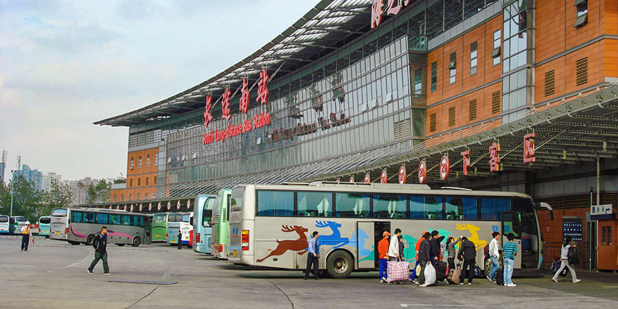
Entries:
[[211,218],[212,205],[217,196],[214,194],[198,195],[193,206],[193,251],[211,253]]

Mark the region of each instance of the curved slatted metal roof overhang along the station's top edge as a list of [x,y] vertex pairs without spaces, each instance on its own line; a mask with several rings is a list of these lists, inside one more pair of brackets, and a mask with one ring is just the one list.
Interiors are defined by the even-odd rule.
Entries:
[[[201,108],[206,95],[212,94],[214,98],[220,96],[225,87],[238,87],[245,77],[257,80],[262,68],[269,69],[271,78],[274,78],[272,72],[275,69],[282,72],[295,71],[323,56],[325,50],[336,49],[349,36],[363,34],[369,27],[369,19],[363,15],[369,14],[370,8],[371,0],[322,0],[271,42],[213,78],[155,104],[94,124],[143,124],[148,119]],[[257,104],[253,102],[253,106]],[[218,110],[220,105],[213,104],[213,111]]]

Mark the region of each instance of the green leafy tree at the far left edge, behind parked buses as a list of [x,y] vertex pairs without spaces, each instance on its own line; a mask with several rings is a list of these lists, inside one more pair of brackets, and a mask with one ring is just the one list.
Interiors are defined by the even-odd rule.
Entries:
[[[13,190],[13,191],[12,191]],[[10,214],[11,191],[13,194],[13,216],[24,216],[30,222],[38,220],[38,214],[43,212],[41,208],[41,192],[36,191],[34,183],[30,183],[22,176],[11,180],[8,185],[0,188],[0,213]]]

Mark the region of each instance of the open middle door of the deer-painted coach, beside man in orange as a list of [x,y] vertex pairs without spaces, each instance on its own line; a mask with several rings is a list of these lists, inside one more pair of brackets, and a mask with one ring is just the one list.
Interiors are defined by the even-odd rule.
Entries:
[[390,230],[391,222],[358,222],[356,268],[379,268],[378,242],[382,240],[382,233]]

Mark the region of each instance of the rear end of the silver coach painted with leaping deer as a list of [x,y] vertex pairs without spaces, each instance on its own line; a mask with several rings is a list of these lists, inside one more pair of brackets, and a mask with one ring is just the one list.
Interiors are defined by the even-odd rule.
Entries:
[[253,257],[253,214],[243,211],[243,203],[255,203],[255,186],[235,187],[229,197],[229,252],[227,259],[233,264],[255,264]]

